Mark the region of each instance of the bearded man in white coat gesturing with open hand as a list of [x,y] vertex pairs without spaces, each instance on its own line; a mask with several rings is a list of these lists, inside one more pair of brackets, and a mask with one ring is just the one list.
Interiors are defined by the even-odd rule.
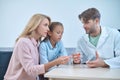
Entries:
[[89,8],[79,15],[86,34],[77,44],[74,63],[86,63],[88,67],[120,68],[120,33],[117,29],[100,25],[100,13]]

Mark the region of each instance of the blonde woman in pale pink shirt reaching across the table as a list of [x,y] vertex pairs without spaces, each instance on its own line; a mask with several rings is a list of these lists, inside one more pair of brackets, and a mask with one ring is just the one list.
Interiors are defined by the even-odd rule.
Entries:
[[43,14],[32,16],[22,34],[16,39],[13,54],[4,80],[37,80],[49,68],[66,64],[69,57],[63,56],[39,65],[38,45],[41,37],[46,37],[51,20]]

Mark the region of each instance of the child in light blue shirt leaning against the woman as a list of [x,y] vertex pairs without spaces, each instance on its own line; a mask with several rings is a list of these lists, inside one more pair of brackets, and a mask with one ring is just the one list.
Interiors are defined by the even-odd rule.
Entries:
[[48,37],[45,38],[39,47],[40,64],[55,60],[60,56],[67,56],[66,49],[61,41],[64,28],[60,22],[52,22],[49,26]]

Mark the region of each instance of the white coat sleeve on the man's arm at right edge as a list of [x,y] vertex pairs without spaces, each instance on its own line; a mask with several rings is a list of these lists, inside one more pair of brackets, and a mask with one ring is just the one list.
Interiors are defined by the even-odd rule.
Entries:
[[115,57],[104,61],[106,64],[110,66],[110,68],[120,68],[120,33],[117,31],[114,33],[115,33],[114,40]]

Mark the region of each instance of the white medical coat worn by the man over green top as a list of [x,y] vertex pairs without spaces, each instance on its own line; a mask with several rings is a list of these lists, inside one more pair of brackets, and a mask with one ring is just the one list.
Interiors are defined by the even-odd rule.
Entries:
[[101,27],[101,35],[95,47],[89,42],[89,35],[82,36],[76,51],[81,54],[81,63],[96,59],[96,51],[110,68],[120,68],[120,32],[117,29]]

